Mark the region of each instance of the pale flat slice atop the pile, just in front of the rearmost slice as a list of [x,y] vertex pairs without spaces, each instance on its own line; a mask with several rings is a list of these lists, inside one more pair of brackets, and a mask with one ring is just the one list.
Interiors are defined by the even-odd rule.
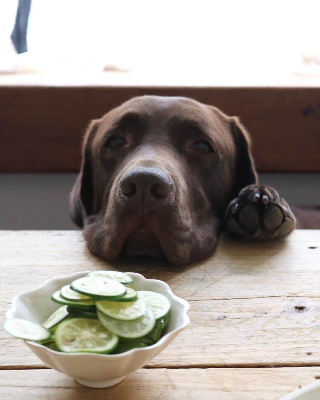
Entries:
[[126,294],[125,286],[116,280],[84,276],[76,279],[70,285],[72,290],[86,294],[96,300],[114,300]]

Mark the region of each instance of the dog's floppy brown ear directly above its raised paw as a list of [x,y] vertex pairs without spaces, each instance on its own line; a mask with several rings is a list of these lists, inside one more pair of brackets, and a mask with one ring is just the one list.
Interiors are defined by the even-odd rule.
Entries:
[[249,134],[238,117],[230,118],[230,128],[236,145],[234,196],[237,196],[245,186],[257,184],[258,176],[252,158]]

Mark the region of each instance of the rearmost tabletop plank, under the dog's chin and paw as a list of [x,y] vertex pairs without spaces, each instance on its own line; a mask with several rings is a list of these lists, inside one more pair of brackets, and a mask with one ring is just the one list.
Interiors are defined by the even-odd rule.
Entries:
[[179,268],[104,262],[88,252],[79,231],[0,231],[0,248],[2,302],[54,276],[102,268],[164,280],[186,300],[320,296],[320,230],[269,242],[222,236],[211,258]]

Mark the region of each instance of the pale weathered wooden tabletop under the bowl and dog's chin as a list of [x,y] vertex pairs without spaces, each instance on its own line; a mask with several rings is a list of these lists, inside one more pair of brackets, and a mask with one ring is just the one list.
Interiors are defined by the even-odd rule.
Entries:
[[190,302],[190,326],[146,367],[89,389],[46,367],[0,330],[0,398],[278,399],[320,378],[320,230],[244,243],[222,237],[184,268],[105,263],[78,231],[0,231],[0,313],[54,276],[120,269],[166,281]]

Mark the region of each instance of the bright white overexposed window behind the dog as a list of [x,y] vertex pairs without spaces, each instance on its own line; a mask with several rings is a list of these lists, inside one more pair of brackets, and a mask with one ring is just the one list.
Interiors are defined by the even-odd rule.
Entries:
[[[3,54],[17,3],[0,6]],[[198,75],[208,84],[320,74],[319,14],[320,4],[310,0],[32,0],[29,54],[20,59],[36,70],[114,65],[177,79]]]

